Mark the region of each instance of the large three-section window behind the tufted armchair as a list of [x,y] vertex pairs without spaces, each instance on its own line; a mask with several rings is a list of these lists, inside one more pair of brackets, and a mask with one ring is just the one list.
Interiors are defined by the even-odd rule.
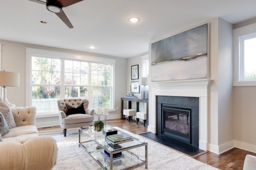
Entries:
[[[89,99],[89,107],[114,109],[114,63],[29,55],[30,102],[37,113],[58,111],[60,98]],[[29,103],[27,104],[29,105]]]

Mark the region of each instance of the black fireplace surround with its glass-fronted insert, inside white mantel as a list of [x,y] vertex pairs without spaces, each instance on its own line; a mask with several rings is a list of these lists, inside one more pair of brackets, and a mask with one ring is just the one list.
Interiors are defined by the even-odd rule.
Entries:
[[199,98],[157,96],[157,135],[199,147]]

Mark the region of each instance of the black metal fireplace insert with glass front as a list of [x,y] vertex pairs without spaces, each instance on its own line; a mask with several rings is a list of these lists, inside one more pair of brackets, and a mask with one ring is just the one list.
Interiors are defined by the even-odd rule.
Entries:
[[189,108],[162,105],[162,135],[191,144]]

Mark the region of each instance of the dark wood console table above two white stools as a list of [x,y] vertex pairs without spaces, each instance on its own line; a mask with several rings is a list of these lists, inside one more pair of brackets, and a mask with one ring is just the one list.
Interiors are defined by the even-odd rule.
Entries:
[[131,109],[131,102],[136,102],[136,111],[140,111],[140,102],[146,103],[146,113],[147,113],[147,123],[148,125],[148,99],[137,99],[137,98],[128,98],[121,97],[121,119],[123,117],[124,101],[128,101],[128,109]]

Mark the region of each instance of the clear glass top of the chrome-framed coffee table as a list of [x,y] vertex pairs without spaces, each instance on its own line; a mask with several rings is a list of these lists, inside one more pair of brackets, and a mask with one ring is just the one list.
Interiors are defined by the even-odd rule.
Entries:
[[[113,128],[113,127],[108,126],[108,128]],[[100,145],[102,145],[102,147],[104,147],[105,150],[108,150],[110,152],[113,152],[113,151],[116,151],[116,150],[125,149],[125,148],[129,148],[129,147],[134,147],[134,146],[146,143],[145,141],[142,141],[141,139],[137,139],[134,136],[132,136],[132,138],[134,139],[133,141],[121,143],[121,144],[119,144],[119,146],[121,146],[121,147],[119,147],[117,149],[114,149],[113,147],[108,145],[110,142],[105,140],[105,135],[102,134],[102,131],[101,132],[94,131],[92,126],[81,128],[79,130],[82,133],[85,133],[87,136],[90,136],[90,138],[92,138],[95,142],[97,142]],[[117,133],[122,133],[122,132],[120,132],[118,130]]]

